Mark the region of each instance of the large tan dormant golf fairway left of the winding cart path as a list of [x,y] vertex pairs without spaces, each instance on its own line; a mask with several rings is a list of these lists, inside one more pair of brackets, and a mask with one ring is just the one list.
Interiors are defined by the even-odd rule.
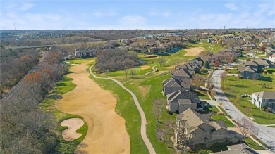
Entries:
[[68,77],[77,86],[56,101],[56,108],[80,115],[87,122],[87,136],[75,153],[130,153],[130,137],[125,120],[116,114],[116,98],[103,90],[86,72],[87,63],[75,65]]

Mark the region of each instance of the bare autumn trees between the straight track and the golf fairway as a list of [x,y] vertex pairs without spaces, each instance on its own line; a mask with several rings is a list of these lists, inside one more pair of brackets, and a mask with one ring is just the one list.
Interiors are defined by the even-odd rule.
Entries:
[[20,88],[1,101],[1,153],[51,153],[57,144],[56,122],[39,103],[54,82],[68,72],[61,52],[50,52],[37,72],[26,75]]

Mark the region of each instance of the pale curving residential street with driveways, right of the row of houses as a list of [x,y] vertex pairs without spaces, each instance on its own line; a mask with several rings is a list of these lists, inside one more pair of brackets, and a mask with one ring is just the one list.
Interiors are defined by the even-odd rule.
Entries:
[[[216,101],[223,103],[222,108],[226,110],[228,115],[231,115],[233,120],[236,120],[238,122],[238,120],[242,119],[243,117],[249,119],[243,113],[241,113],[240,110],[238,110],[238,108],[236,108],[235,105],[231,103],[231,101],[228,100],[224,92],[221,90],[222,72],[224,72],[223,68],[219,68],[219,70],[215,70],[213,72],[213,75],[211,77],[212,84],[214,84],[214,90],[216,91]],[[255,136],[257,136],[259,139],[264,141],[264,143],[267,143],[268,146],[271,146],[271,148],[275,150],[275,129],[257,124],[256,122],[253,122],[253,124],[256,128],[259,128],[259,132],[258,134],[255,134]]]

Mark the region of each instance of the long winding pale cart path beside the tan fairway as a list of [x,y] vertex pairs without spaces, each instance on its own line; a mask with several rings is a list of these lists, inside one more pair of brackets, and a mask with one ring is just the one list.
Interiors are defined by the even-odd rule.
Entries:
[[92,72],[92,67],[93,66],[94,65],[92,65],[89,68],[89,70],[90,70],[90,74],[94,78],[96,78],[96,79],[111,79],[112,81],[116,82],[119,86],[121,86],[121,88],[123,88],[124,90],[126,90],[132,96],[132,98],[133,98],[133,100],[135,102],[135,105],[138,108],[138,112],[140,112],[140,117],[141,117],[140,134],[141,134],[142,140],[145,142],[145,145],[147,146],[147,149],[149,150],[149,153],[156,153],[154,151],[152,143],[149,141],[149,139],[147,137],[147,134],[146,134],[146,124],[147,124],[147,121],[146,121],[145,113],[142,110],[142,108],[140,106],[140,103],[138,102],[137,96],[135,96],[135,94],[132,91],[130,91],[129,89],[127,89],[125,86],[123,86],[123,84],[121,84],[121,82],[118,82],[118,80],[116,80],[116,79],[106,78],[106,77],[97,77],[96,75],[94,75],[94,73]]

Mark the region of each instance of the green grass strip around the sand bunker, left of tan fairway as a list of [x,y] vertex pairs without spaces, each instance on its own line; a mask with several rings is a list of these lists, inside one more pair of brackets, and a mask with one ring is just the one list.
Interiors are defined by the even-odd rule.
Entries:
[[40,107],[44,111],[51,111],[56,116],[56,123],[58,127],[56,131],[58,133],[58,144],[54,149],[54,153],[74,153],[75,148],[78,144],[85,138],[87,134],[87,124],[84,124],[80,129],[77,130],[78,133],[82,134],[80,138],[75,139],[74,141],[65,141],[62,138],[62,131],[67,129],[68,127],[60,126],[60,122],[63,120],[71,119],[71,118],[83,118],[79,115],[71,115],[67,113],[62,113],[59,110],[54,108],[54,102],[61,98],[63,94],[66,94],[68,91],[71,91],[75,88],[75,84],[73,84],[72,79],[68,78],[66,75],[59,81],[54,84],[54,89],[47,94],[44,101],[40,104]]

